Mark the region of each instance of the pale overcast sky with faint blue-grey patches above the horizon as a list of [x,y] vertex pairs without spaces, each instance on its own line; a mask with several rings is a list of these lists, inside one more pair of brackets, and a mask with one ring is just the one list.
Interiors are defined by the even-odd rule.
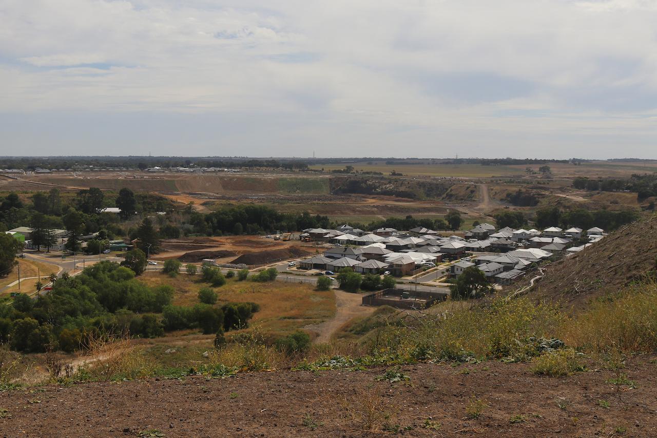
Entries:
[[0,155],[657,158],[654,0],[0,0]]

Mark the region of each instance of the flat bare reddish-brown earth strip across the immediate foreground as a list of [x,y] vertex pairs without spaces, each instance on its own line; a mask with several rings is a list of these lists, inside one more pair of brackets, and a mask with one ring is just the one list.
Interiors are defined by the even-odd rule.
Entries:
[[[654,437],[655,357],[629,360],[623,371],[636,387],[620,391],[606,383],[615,376],[606,370],[538,377],[528,364],[501,362],[404,366],[411,379],[397,383],[376,381],[384,372],[378,368],[50,385],[43,392],[0,393],[6,409],[0,433],[363,437],[396,428],[403,435],[436,437]],[[476,419],[466,416],[473,396],[485,404]],[[376,431],[367,430],[368,412],[374,412],[369,423]]]

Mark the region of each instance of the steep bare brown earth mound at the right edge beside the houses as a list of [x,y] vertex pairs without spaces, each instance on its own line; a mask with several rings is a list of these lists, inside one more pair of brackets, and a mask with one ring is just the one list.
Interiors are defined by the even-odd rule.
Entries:
[[639,280],[657,264],[657,215],[610,233],[580,253],[547,266],[530,296],[582,306]]

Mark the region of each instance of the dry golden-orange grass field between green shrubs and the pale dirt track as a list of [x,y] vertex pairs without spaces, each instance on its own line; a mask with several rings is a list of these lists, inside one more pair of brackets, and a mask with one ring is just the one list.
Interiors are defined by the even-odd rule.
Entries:
[[[198,281],[199,276],[193,276]],[[193,306],[198,303],[198,289],[207,283],[191,280],[187,274],[170,278],[158,272],[147,272],[141,280],[148,285],[168,284],[175,289],[173,304]],[[299,283],[254,283],[229,279],[222,287],[214,289],[219,295],[217,304],[250,301],[260,304],[260,312],[251,325],[264,333],[285,333],[308,324],[317,324],[332,318],[336,312],[335,295],[332,291],[315,291],[312,285]]]

